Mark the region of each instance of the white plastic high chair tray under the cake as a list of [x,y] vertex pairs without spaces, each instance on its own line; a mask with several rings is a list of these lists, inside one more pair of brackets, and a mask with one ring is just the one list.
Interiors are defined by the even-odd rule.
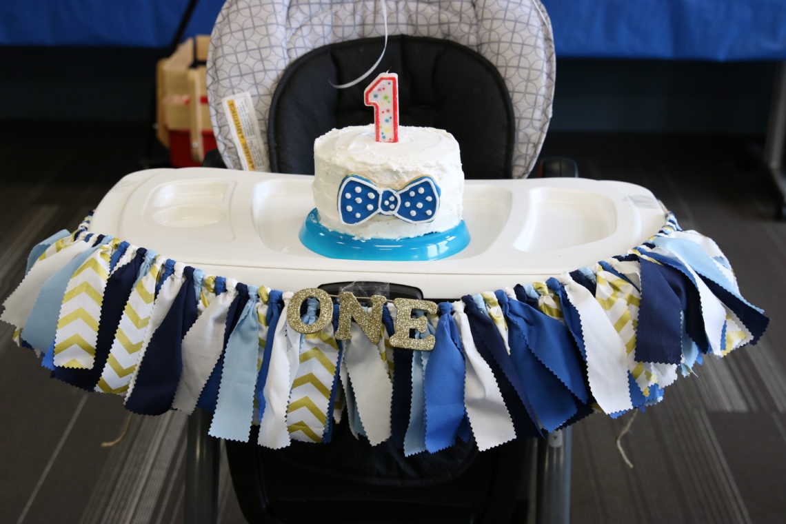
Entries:
[[205,273],[297,291],[337,281],[415,286],[429,298],[545,280],[625,253],[656,233],[665,210],[648,189],[586,178],[468,180],[471,241],[420,262],[326,258],[300,244],[314,207],[310,175],[204,167],[138,171],[101,200],[90,230]]

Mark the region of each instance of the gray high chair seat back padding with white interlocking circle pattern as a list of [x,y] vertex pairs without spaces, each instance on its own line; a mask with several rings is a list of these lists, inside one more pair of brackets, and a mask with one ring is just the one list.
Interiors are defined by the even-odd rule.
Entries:
[[[554,87],[553,37],[540,2],[386,2],[389,34],[452,40],[498,68],[516,115],[512,173],[527,176],[545,138]],[[222,110],[225,97],[250,93],[266,153],[270,103],[287,66],[317,47],[382,35],[376,0],[228,0],[216,20],[208,53],[211,120],[227,167],[242,165]],[[270,170],[267,154],[255,169]]]

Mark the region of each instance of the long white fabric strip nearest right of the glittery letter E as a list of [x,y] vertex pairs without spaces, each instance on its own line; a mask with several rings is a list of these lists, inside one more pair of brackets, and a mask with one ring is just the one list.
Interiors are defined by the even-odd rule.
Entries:
[[461,337],[461,345],[464,346],[464,405],[478,449],[484,451],[516,438],[516,429],[505,407],[497,380],[494,379],[494,372],[480,356],[472,339],[469,319],[461,300],[453,302],[453,317]]

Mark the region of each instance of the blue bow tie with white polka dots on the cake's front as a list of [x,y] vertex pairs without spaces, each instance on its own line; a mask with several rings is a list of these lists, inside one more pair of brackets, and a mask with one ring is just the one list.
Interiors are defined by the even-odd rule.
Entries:
[[339,187],[338,207],[344,224],[361,224],[376,214],[412,224],[430,222],[439,210],[439,185],[425,174],[402,189],[379,188],[368,178],[348,174]]

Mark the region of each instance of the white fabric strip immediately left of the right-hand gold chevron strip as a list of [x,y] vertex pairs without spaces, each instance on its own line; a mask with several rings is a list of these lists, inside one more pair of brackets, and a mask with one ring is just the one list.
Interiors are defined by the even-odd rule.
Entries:
[[576,284],[568,273],[559,280],[581,319],[587,378],[595,401],[606,413],[632,409],[625,344],[587,288]]

